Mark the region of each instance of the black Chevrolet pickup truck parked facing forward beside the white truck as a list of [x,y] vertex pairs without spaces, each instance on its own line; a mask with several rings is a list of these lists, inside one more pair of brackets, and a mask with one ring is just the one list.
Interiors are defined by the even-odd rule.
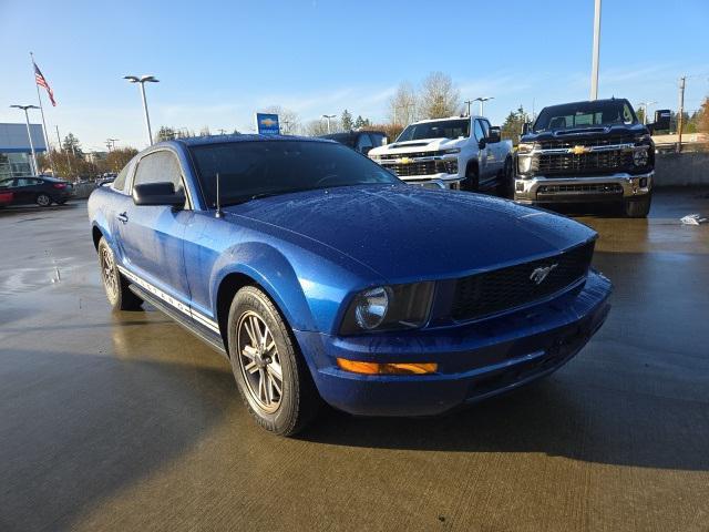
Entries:
[[650,211],[655,175],[653,129],[669,113],[641,124],[625,99],[544,108],[525,124],[515,157],[514,198],[525,204],[616,203],[626,216]]

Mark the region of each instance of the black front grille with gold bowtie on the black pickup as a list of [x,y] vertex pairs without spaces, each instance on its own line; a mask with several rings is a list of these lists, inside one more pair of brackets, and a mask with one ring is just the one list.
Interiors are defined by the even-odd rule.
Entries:
[[604,173],[630,170],[633,152],[612,150],[608,152],[590,152],[582,154],[561,153],[542,154],[532,161],[532,170],[547,174],[583,174]]

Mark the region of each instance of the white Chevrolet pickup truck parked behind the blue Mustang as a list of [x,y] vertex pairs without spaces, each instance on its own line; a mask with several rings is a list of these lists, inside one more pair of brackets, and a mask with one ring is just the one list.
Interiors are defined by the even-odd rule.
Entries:
[[507,193],[512,186],[512,142],[501,141],[500,127],[483,116],[414,122],[369,156],[399,178],[427,187]]

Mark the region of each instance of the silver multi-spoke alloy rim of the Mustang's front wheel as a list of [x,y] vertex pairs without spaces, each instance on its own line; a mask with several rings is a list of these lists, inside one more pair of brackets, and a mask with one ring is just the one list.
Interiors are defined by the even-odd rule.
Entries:
[[267,413],[280,407],[282,367],[266,321],[253,310],[242,315],[237,326],[238,361],[251,399]]

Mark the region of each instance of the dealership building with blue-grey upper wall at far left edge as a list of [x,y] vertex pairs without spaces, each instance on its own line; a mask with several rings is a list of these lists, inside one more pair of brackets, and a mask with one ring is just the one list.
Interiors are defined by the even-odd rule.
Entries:
[[[34,152],[47,152],[40,124],[30,124]],[[32,150],[25,124],[0,123],[0,180],[32,175]]]

